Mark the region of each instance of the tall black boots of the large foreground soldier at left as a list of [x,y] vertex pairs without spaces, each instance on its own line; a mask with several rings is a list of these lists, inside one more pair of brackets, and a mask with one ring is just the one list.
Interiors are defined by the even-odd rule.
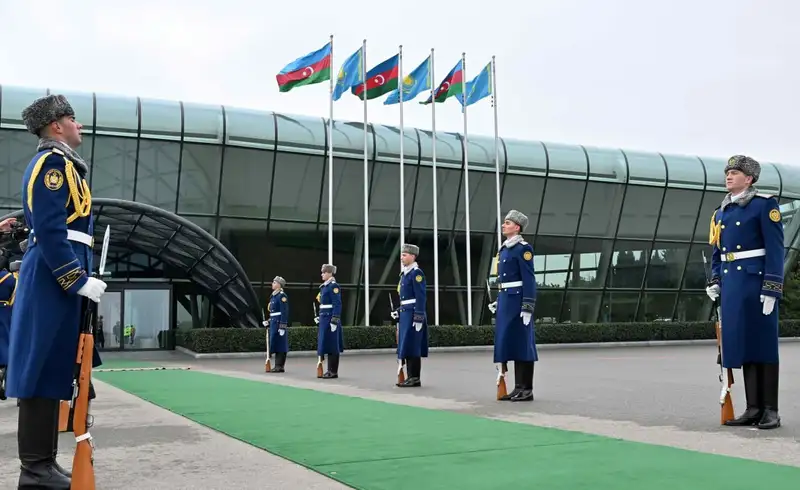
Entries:
[[22,464],[17,488],[69,490],[70,479],[56,469],[53,458],[57,434],[58,400],[20,400],[17,446]]

